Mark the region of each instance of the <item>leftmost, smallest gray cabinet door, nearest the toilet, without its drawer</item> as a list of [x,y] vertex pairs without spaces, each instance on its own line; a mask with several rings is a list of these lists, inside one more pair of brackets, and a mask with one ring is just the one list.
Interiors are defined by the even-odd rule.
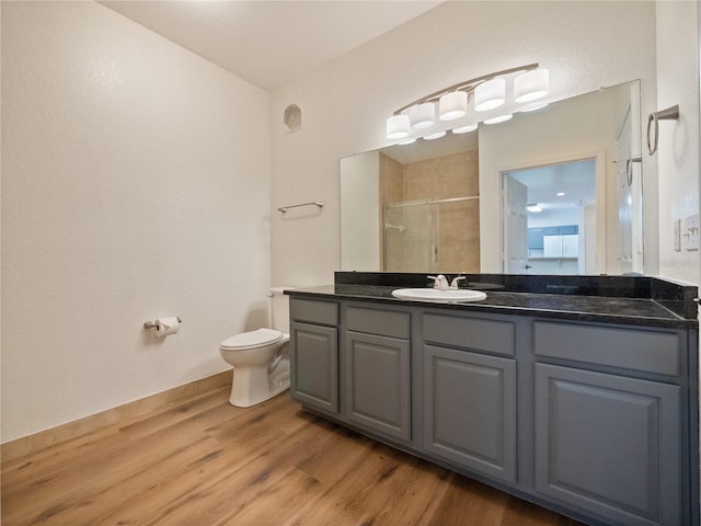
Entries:
[[338,333],[333,327],[291,323],[290,392],[310,408],[338,413]]

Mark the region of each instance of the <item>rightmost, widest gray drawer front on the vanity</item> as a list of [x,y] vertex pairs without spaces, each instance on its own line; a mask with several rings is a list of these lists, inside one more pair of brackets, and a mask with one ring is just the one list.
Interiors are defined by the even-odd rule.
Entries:
[[660,375],[680,370],[679,336],[668,332],[537,321],[533,350],[538,356]]

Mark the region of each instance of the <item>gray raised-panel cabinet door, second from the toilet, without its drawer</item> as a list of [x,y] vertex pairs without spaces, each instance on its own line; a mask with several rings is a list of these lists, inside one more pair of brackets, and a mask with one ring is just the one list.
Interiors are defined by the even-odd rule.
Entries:
[[409,441],[409,341],[346,331],[344,380],[347,420]]

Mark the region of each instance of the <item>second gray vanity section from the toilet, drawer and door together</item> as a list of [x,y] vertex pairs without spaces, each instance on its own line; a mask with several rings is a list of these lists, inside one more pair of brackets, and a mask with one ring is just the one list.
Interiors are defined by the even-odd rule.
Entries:
[[410,315],[349,306],[343,335],[343,407],[348,422],[411,439]]

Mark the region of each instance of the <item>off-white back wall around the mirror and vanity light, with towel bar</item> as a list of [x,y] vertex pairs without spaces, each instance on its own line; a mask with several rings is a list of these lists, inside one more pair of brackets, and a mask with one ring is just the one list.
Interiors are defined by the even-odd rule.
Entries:
[[[273,93],[273,204],[323,199],[304,222],[273,217],[273,282],[331,283],[340,268],[338,159],[388,144],[384,121],[426,93],[491,71],[540,62],[552,98],[642,79],[655,101],[652,2],[447,2]],[[304,112],[286,134],[288,104]],[[656,184],[656,165],[645,161]],[[652,225],[656,205],[648,206]],[[653,260],[657,260],[654,254]]]

